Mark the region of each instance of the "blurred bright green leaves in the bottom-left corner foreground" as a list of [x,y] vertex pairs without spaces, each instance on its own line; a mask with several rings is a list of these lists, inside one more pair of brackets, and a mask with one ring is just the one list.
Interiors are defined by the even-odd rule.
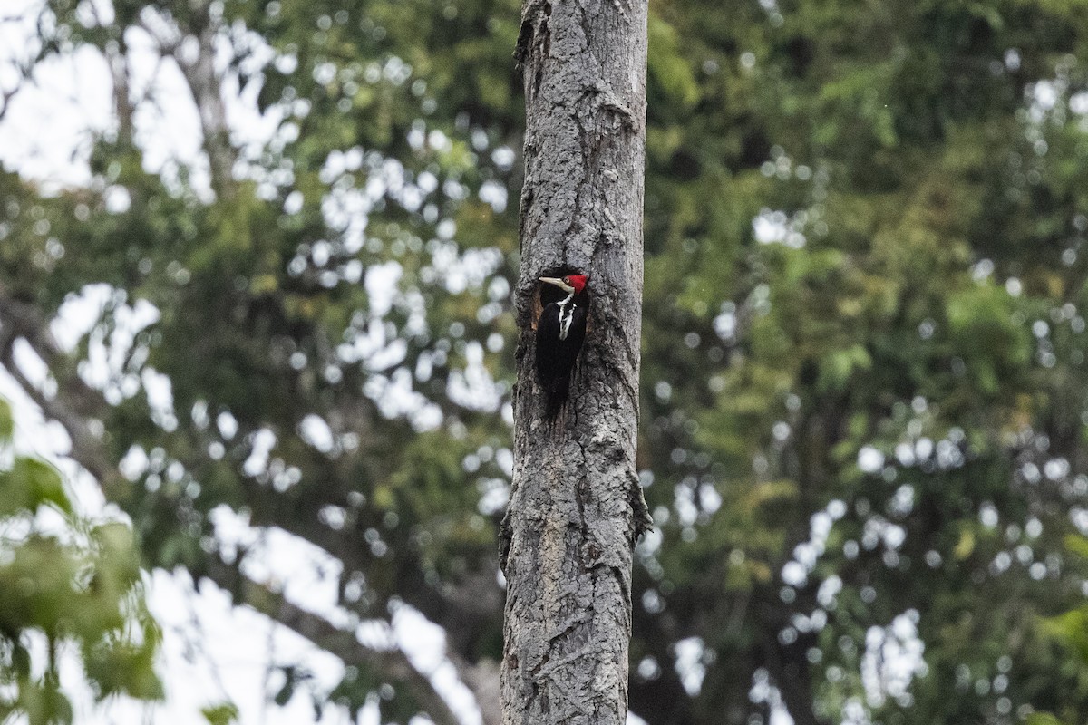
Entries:
[[[60,650],[75,647],[99,699],[163,696],[154,673],[159,632],[143,602],[132,530],[73,511],[55,468],[12,450],[11,410],[0,400],[0,720],[71,723]],[[32,654],[39,645],[45,649]],[[32,666],[45,658],[45,667]]]

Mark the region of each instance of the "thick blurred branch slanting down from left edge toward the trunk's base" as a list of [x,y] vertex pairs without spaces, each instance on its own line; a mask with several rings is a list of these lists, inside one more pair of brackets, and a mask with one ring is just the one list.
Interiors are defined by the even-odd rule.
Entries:
[[[15,364],[14,343],[20,338],[26,340],[49,367],[57,382],[57,395],[46,395]],[[72,372],[71,361],[53,339],[46,316],[32,304],[15,299],[3,283],[0,283],[0,364],[48,417],[64,426],[72,439],[72,459],[99,480],[108,498],[115,500],[120,487],[131,484],[103,453],[102,440],[94,434],[91,423],[98,417],[106,417],[108,403]],[[100,415],[96,416],[95,412]],[[238,592],[238,603],[265,614],[345,663],[366,663],[393,682],[400,683],[436,725],[457,725],[459,722],[431,682],[399,649],[366,647],[358,641],[353,629],[342,629],[292,603],[267,585],[244,576],[236,566],[226,564],[218,555],[209,558],[202,574],[224,590]]]

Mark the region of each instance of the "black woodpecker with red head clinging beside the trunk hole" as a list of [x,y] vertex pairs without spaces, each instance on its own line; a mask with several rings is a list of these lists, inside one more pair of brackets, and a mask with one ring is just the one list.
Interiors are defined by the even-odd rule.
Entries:
[[566,292],[566,297],[561,297],[547,295],[551,288],[541,290],[542,302],[546,297],[554,299],[544,304],[536,323],[536,378],[547,396],[547,416],[555,417],[567,401],[570,373],[585,339],[585,321],[590,312],[590,293],[585,289],[589,277],[571,274],[561,279],[541,277],[540,280]]

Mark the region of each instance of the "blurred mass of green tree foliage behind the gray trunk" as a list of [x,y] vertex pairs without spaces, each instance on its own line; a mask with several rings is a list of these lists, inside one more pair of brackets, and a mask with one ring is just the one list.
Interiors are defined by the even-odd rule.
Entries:
[[[0,113],[86,51],[114,108],[85,184],[0,177],[4,367],[147,566],[358,665],[309,692],[320,707],[384,693],[386,720],[454,720],[401,652],[355,636],[408,604],[495,722],[516,3],[53,1],[30,20]],[[1085,23],[1050,0],[650,9],[647,722],[1085,720],[1081,662],[1040,624],[1084,596],[1065,535],[1088,527]],[[203,147],[163,163],[170,77]],[[232,122],[239,95],[268,138]],[[69,350],[48,333],[73,296],[106,303]],[[342,562],[345,618],[247,578],[249,554],[218,546],[235,515]]]

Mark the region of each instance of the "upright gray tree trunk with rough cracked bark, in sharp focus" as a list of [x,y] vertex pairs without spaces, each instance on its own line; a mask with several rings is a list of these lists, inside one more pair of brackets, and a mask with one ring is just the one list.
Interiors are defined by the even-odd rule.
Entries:
[[[503,722],[627,717],[642,314],[645,0],[526,0],[515,470]],[[590,332],[555,421],[534,373],[537,278],[590,275]]]

